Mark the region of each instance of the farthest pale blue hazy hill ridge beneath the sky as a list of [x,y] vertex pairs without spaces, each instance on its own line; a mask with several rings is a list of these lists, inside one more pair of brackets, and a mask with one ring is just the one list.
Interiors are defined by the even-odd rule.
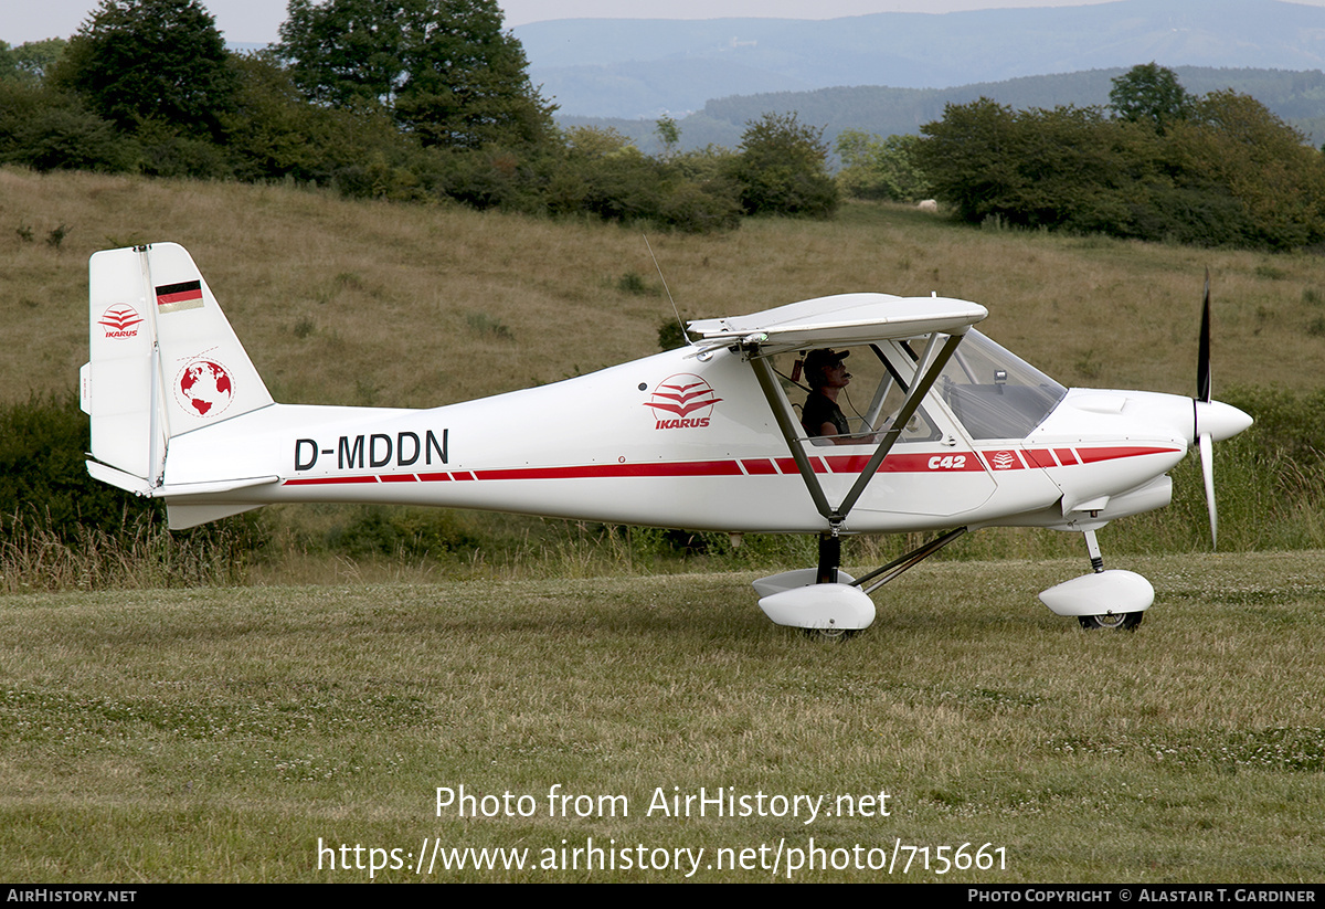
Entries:
[[655,119],[713,98],[885,85],[942,89],[1045,73],[1325,66],[1325,8],[1281,0],[876,13],[831,20],[580,19],[514,29],[564,117]]

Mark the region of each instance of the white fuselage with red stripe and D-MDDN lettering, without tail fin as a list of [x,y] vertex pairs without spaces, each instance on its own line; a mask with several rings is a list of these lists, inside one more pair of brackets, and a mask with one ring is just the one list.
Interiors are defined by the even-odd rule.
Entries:
[[[1073,390],[1015,440],[973,440],[938,392],[925,409],[935,437],[888,455],[844,531],[1061,525],[1064,497],[1076,505],[1143,488],[1190,444],[1173,424],[1191,400],[1169,395]],[[806,449],[835,500],[873,445]],[[216,476],[280,481],[191,502],[424,504],[725,531],[824,526],[749,363],[726,348],[670,351],[433,409],[273,404],[171,441],[168,488]]]

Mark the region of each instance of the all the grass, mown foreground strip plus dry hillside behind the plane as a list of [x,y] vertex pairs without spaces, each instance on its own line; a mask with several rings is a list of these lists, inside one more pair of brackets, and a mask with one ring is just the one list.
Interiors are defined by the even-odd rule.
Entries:
[[[45,242],[61,225],[64,240]],[[87,256],[150,240],[191,249],[290,403],[421,407],[553,382],[653,352],[672,311],[640,232],[615,225],[0,168],[0,398],[74,388]],[[990,335],[1068,384],[1179,394],[1194,386],[1208,266],[1216,395],[1321,386],[1316,254],[977,231],[885,205],[651,241],[688,317],[937,290],[988,306]],[[1318,546],[1316,480],[1287,496],[1247,476],[1255,465],[1220,468],[1239,490],[1222,501],[1222,546]],[[1084,633],[1037,603],[1086,570],[1068,535],[962,541],[966,558],[1035,558],[926,563],[876,595],[874,627],[840,647],[770,625],[751,572],[677,574],[812,558],[771,546],[747,562],[659,563],[611,527],[594,541],[444,514],[443,531],[504,554],[360,559],[301,547],[364,515],[273,509],[284,557],[172,575],[248,586],[159,590],[168,545],[144,538],[144,558],[97,563],[115,590],[0,596],[0,877],[368,879],[329,868],[327,853],[319,868],[319,840],[386,849],[387,864],[399,849],[411,868],[435,843],[527,848],[533,865],[375,880],[686,877],[676,852],[665,869],[562,868],[560,849],[592,837],[644,845],[651,863],[652,849],[704,848],[692,880],[1325,880],[1325,554],[1192,555],[1206,534],[1198,470],[1175,473],[1177,521],[1138,515],[1101,534],[1110,567],[1157,588],[1134,635]],[[1273,517],[1253,526],[1252,514]],[[50,575],[52,551],[40,534],[23,549],[36,575]],[[878,554],[853,542],[848,561]],[[94,562],[60,563],[61,586],[94,586]],[[439,814],[437,788],[460,786],[537,810]],[[574,800],[549,816],[554,786],[594,796],[590,816]],[[648,811],[660,788],[700,787],[824,796],[833,816]],[[628,816],[595,800],[616,795]],[[871,816],[840,816],[839,796]],[[849,869],[788,873],[787,849],[811,837],[863,852]],[[1004,849],[998,868],[938,873],[986,844],[983,857]],[[556,869],[537,867],[543,849]],[[730,869],[722,849],[755,852]],[[898,855],[890,873],[869,867]]]

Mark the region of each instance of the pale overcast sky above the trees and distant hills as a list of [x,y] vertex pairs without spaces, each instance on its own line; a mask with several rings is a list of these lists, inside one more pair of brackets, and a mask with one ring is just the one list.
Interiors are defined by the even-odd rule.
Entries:
[[[1102,0],[498,0],[506,25],[545,19],[721,19],[772,16],[782,19],[836,19],[881,12],[942,13],[996,7],[1079,7]],[[1325,7],[1325,0],[1296,0]],[[99,0],[0,0],[0,40],[9,44],[69,37],[78,30]],[[225,40],[270,44],[285,21],[282,0],[204,0]]]

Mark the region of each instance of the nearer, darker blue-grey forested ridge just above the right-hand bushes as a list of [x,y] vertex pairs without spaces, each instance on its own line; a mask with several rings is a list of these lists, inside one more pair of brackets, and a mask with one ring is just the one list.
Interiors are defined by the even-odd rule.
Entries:
[[[918,133],[924,123],[939,119],[943,105],[992,98],[1019,110],[1059,105],[1106,105],[1112,80],[1124,68],[1092,69],[1057,76],[1028,76],[1006,82],[977,82],[951,89],[893,89],[855,86],[816,91],[779,91],[734,95],[709,101],[680,118],[681,146],[729,148],[741,140],[745,125],[766,111],[795,111],[803,123],[824,127],[832,140],[845,129],[878,135]],[[1269,110],[1305,133],[1314,144],[1325,142],[1325,73],[1279,69],[1175,68],[1183,87],[1192,94],[1234,89],[1260,101]],[[653,119],[559,117],[564,126],[611,126],[631,136],[647,152],[660,150]]]

